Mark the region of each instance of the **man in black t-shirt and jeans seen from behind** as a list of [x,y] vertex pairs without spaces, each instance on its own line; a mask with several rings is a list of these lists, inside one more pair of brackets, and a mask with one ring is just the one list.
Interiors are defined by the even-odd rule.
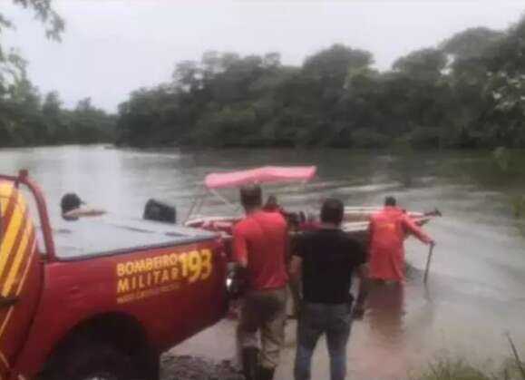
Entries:
[[292,277],[302,277],[303,305],[297,327],[296,380],[310,379],[310,366],[317,340],[326,334],[332,380],[346,376],[346,343],[350,336],[353,297],[352,277],[361,278],[355,314],[362,314],[365,301],[365,248],[340,229],[344,206],[326,200],[321,209],[321,227],[297,241],[291,262]]

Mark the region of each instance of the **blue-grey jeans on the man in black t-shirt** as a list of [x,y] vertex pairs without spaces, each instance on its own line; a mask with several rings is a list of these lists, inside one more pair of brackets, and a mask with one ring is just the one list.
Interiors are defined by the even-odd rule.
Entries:
[[304,303],[297,326],[296,380],[309,380],[317,340],[326,334],[331,380],[346,377],[346,343],[350,336],[351,306]]

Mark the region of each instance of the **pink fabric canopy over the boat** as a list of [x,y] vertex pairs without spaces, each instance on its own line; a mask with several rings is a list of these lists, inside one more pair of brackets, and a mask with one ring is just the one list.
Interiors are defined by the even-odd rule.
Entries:
[[315,175],[315,166],[264,166],[248,171],[211,173],[204,179],[204,184],[208,189],[227,189],[252,183],[308,181]]

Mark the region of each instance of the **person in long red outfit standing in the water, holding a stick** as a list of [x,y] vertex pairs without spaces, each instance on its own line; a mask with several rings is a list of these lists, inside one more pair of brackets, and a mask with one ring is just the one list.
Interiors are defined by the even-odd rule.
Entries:
[[394,197],[386,197],[384,209],[375,213],[368,227],[370,278],[404,282],[404,239],[411,234],[424,244],[435,244],[413,219],[397,207]]

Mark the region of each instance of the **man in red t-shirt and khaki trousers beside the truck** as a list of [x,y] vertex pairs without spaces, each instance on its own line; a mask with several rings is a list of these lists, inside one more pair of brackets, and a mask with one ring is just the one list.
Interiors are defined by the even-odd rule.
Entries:
[[240,201],[247,216],[233,229],[233,256],[247,284],[238,322],[243,371],[247,380],[271,380],[287,316],[287,221],[262,209],[258,186],[243,187]]

